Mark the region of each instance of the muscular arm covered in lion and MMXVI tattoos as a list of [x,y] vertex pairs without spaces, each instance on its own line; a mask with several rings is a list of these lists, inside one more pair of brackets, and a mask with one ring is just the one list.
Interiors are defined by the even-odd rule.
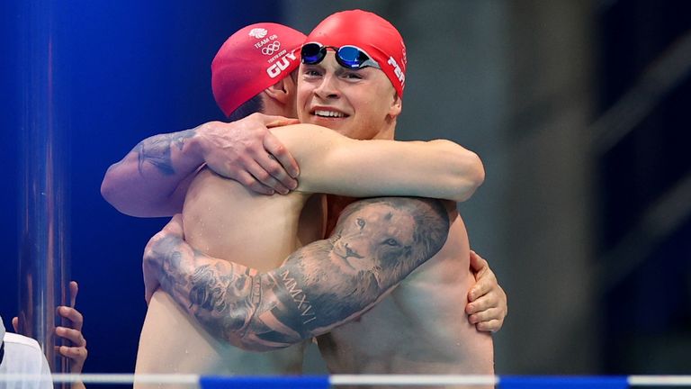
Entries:
[[449,229],[436,200],[363,200],[346,208],[328,240],[258,273],[194,251],[180,221],[149,241],[145,277],[157,278],[211,334],[253,350],[287,347],[354,319],[434,256]]

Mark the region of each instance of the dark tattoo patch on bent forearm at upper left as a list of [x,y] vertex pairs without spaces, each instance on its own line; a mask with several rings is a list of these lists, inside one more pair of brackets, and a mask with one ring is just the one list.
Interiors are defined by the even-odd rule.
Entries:
[[192,138],[196,129],[185,130],[180,132],[155,135],[146,140],[140,141],[134,147],[139,158],[139,174],[142,174],[144,162],[148,162],[157,169],[167,175],[175,174],[175,168],[171,160],[171,147],[175,146],[177,149],[183,149],[184,140]]

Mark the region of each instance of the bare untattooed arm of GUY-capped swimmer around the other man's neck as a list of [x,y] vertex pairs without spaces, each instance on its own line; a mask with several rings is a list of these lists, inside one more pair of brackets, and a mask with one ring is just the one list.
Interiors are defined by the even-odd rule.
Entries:
[[477,154],[450,140],[353,140],[309,124],[272,131],[300,165],[303,192],[461,202],[484,180]]

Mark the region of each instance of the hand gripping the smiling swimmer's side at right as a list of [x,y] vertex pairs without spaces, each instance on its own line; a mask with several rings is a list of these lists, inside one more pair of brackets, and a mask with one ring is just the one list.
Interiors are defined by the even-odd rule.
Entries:
[[480,331],[497,332],[507,317],[507,294],[498,285],[488,262],[472,250],[471,270],[475,274],[475,285],[468,292],[469,303],[465,306],[468,320]]

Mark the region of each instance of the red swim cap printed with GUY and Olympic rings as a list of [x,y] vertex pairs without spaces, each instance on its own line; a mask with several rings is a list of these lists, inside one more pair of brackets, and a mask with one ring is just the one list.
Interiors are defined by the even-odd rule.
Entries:
[[305,34],[277,23],[251,24],[230,35],[211,62],[211,89],[221,111],[229,116],[291,74],[304,41]]

